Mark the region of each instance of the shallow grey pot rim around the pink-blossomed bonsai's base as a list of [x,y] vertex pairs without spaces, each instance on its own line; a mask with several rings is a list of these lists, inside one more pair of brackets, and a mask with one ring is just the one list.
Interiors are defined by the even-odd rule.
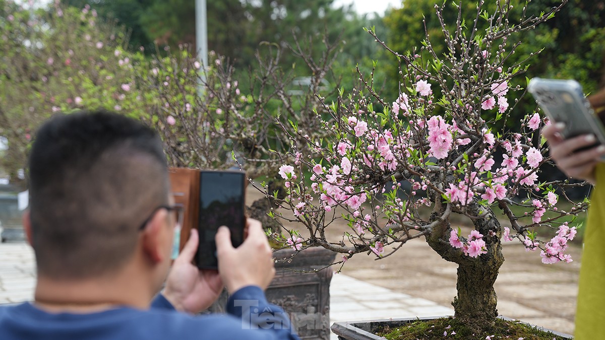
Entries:
[[[408,324],[411,321],[416,320],[433,320],[439,318],[446,318],[446,316],[430,316],[427,318],[404,318],[404,319],[384,319],[384,320],[370,320],[370,321],[344,321],[335,322],[332,325],[332,332],[338,335],[338,339],[341,340],[384,340],[381,336],[374,333],[382,329],[385,326],[396,328],[402,325]],[[511,318],[505,318],[508,321],[513,321]],[[546,332],[552,332],[554,335],[560,336],[564,339],[573,339],[574,337],[554,330],[545,329],[543,327],[536,327],[537,329],[545,330]]]

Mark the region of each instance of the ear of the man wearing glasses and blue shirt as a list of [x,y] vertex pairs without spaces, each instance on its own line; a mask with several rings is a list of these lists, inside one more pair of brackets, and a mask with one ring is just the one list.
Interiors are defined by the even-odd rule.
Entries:
[[141,242],[143,252],[153,263],[160,263],[165,260],[165,238],[168,237],[166,230],[167,220],[166,209],[160,209],[149,220],[145,229],[141,232]]

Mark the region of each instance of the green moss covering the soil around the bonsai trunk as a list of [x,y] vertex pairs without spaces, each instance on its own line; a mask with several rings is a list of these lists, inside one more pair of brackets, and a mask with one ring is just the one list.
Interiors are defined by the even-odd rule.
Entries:
[[[454,333],[454,334],[453,334]],[[496,339],[513,339],[523,338],[525,340],[553,340],[564,339],[554,335],[551,332],[544,332],[535,329],[520,321],[505,321],[497,319],[494,327],[490,329],[477,331],[471,329],[466,324],[463,324],[454,318],[441,318],[430,321],[412,321],[409,324],[402,325],[397,328],[385,327],[376,332],[376,335],[384,336],[389,340],[431,340],[431,339],[464,339],[464,340],[484,340],[487,336],[492,336],[492,340]]]

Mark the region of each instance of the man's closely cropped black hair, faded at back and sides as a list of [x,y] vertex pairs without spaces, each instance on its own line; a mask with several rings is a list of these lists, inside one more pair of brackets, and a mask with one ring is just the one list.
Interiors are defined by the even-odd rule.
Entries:
[[48,120],[29,159],[38,273],[87,278],[119,269],[140,224],[168,201],[166,166],[159,136],[137,120],[106,111]]

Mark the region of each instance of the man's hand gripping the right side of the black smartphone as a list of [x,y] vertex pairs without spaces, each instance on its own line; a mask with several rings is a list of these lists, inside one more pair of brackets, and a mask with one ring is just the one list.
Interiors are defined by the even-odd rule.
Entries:
[[220,227],[215,237],[218,271],[231,294],[246,286],[266,289],[275,275],[273,253],[262,224],[251,218],[246,224],[248,236],[237,248],[231,243],[229,228]]

